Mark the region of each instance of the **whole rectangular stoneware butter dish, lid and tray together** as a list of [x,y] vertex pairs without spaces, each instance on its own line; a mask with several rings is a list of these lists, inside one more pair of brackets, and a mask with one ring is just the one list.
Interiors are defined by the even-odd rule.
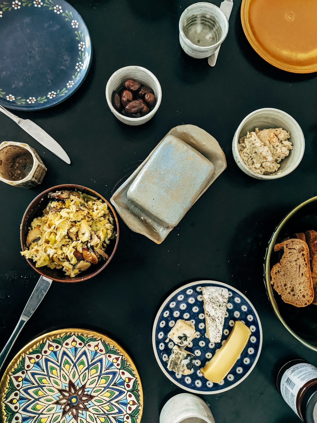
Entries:
[[198,126],[175,126],[110,201],[132,231],[161,244],[226,167],[213,136]]

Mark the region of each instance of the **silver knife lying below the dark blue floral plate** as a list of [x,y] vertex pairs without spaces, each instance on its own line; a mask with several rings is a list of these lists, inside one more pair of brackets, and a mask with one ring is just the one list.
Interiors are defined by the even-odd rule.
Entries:
[[7,115],[11,118],[16,124],[18,124],[22,129],[25,130],[31,137],[33,137],[38,143],[42,144],[45,148],[49,151],[52,151],[57,157],[62,159],[68,165],[71,164],[71,161],[66,153],[66,151],[52,138],[48,135],[44,129],[40,128],[37,124],[30,121],[30,119],[22,119],[18,116],[14,115],[13,113],[9,112],[9,110],[5,109],[3,106],[0,105],[0,112]]

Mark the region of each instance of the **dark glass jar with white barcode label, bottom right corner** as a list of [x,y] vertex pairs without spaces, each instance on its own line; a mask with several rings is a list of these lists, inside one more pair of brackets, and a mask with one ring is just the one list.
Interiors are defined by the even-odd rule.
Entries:
[[277,375],[277,389],[305,423],[317,423],[317,368],[303,360],[286,363]]

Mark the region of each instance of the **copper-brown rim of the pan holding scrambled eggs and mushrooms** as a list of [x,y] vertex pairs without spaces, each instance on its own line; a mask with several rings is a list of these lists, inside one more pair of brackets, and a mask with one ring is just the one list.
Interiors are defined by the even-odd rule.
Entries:
[[115,251],[116,251],[116,249],[118,247],[118,241],[119,241],[119,222],[118,222],[118,217],[117,217],[117,215],[115,213],[115,210],[113,209],[112,205],[102,195],[98,194],[98,192],[96,192],[94,190],[91,190],[90,188],[84,187],[83,185],[77,185],[77,184],[61,184],[61,185],[56,185],[55,187],[50,187],[47,190],[41,192],[27,206],[27,209],[25,210],[25,213],[23,214],[22,222],[21,222],[21,226],[20,226],[20,242],[21,242],[22,251],[25,251],[25,247],[23,245],[23,239],[22,239],[22,230],[25,227],[25,220],[26,220],[26,218],[28,216],[28,212],[32,208],[33,204],[36,203],[36,201],[39,198],[41,198],[42,196],[48,194],[49,192],[58,191],[58,190],[67,190],[70,187],[74,188],[75,190],[77,190],[77,189],[87,190],[87,191],[91,192],[93,195],[95,195],[96,197],[100,198],[102,201],[104,201],[107,204],[109,210],[112,213],[112,217],[115,220],[117,236],[115,238],[115,245],[113,247],[112,254],[109,256],[108,260],[105,261],[102,266],[100,266],[98,269],[94,270],[93,272],[84,273],[83,276],[69,277],[68,278],[69,280],[68,279],[65,279],[65,277],[64,277],[64,279],[62,279],[62,278],[58,278],[58,277],[50,277],[50,276],[45,275],[44,272],[41,272],[41,270],[40,270],[41,267],[36,267],[35,266],[35,263],[32,260],[30,260],[29,258],[26,258],[25,257],[26,261],[32,267],[32,269],[34,269],[36,272],[38,272],[41,276],[44,276],[44,277],[46,277],[48,279],[55,280],[56,282],[63,282],[63,283],[81,282],[82,280],[87,280],[87,279],[90,279],[93,276],[98,275],[98,273],[100,273],[101,270],[103,270],[108,265],[108,263],[110,262],[110,260],[112,259],[113,255],[115,254]]

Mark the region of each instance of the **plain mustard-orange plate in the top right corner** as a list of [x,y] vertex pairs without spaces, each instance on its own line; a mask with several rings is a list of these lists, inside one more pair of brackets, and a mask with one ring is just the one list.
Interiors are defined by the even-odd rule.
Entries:
[[253,49],[271,65],[317,71],[317,0],[243,0],[241,22]]

